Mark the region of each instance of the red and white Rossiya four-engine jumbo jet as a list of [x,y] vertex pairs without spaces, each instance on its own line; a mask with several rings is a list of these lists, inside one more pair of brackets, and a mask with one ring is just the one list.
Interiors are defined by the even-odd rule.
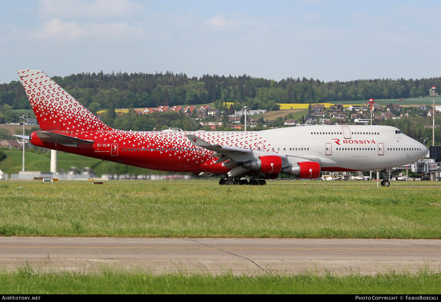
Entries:
[[219,184],[264,185],[279,173],[364,171],[414,162],[427,148],[389,126],[311,125],[263,131],[136,132],[108,127],[39,70],[19,70],[41,131],[35,146],[153,170],[222,176]]

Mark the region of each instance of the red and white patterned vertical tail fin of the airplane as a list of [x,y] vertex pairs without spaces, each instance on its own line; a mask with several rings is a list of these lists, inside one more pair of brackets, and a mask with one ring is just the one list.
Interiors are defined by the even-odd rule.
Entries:
[[41,130],[111,131],[41,70],[17,71]]

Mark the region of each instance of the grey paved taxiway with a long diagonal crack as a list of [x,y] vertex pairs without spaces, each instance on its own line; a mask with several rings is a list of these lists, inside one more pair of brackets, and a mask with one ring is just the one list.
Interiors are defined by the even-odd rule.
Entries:
[[441,270],[441,240],[0,237],[0,269],[340,274]]

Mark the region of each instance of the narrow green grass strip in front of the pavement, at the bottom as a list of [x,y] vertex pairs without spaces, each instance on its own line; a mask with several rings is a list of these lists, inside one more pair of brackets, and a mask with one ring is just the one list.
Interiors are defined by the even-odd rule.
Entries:
[[439,294],[439,273],[221,276],[149,272],[0,273],[2,294]]

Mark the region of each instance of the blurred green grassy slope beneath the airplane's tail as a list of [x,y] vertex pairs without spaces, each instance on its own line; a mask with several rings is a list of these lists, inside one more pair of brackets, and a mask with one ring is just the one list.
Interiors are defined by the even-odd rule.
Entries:
[[[4,174],[16,174],[22,170],[22,152],[4,151],[6,159],[0,161],[0,170]],[[50,153],[38,155],[35,153],[25,152],[25,169],[26,171],[49,171],[50,170]],[[163,171],[153,171],[132,166],[122,165],[115,162],[101,161],[100,159],[92,159],[86,156],[75,154],[58,154],[57,171],[69,171],[69,167],[75,166],[78,170],[84,167],[90,167],[97,176],[102,174],[165,174]]]

